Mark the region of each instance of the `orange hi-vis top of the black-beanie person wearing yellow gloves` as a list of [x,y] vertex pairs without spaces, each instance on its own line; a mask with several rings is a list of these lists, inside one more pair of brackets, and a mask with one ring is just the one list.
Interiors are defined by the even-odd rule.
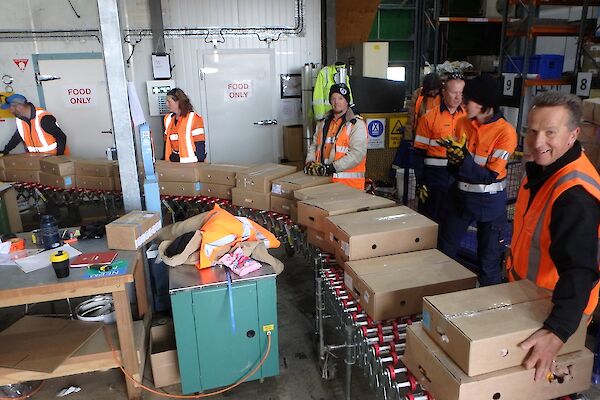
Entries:
[[467,136],[467,148],[475,163],[496,172],[498,181],[503,180],[508,159],[517,148],[515,128],[504,118],[481,124],[477,119],[465,116],[456,125],[456,135],[461,137],[463,133]]

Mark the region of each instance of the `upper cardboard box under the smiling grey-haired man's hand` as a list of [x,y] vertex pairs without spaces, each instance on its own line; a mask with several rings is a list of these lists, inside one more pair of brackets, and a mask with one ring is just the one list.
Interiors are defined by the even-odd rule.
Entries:
[[[552,310],[552,293],[522,280],[423,299],[423,327],[469,376],[521,365],[519,343],[540,329]],[[585,347],[587,321],[559,354]]]

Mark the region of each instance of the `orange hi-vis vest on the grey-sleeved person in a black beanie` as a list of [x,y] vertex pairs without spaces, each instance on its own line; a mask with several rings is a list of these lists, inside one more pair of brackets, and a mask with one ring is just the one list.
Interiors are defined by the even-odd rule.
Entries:
[[[333,161],[344,157],[350,147],[350,132],[352,132],[352,122],[342,123],[342,119],[332,120],[327,130],[325,138],[325,146],[323,146],[323,126],[320,125],[317,132],[317,149],[315,152],[315,160],[323,164],[331,164]],[[335,156],[333,160],[328,157],[331,154],[332,146],[335,145]],[[321,153],[321,149],[323,152]],[[323,157],[325,156],[325,157]],[[333,174],[333,182],[343,183],[344,185],[353,187],[358,190],[365,190],[365,173],[367,171],[367,157],[362,159],[353,168],[346,171],[338,171]]]

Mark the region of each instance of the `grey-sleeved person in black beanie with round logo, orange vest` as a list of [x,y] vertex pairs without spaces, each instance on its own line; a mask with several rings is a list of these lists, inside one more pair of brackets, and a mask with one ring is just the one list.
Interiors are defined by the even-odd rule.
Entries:
[[304,172],[332,176],[334,182],[364,190],[367,127],[350,108],[350,89],[337,83],[329,90],[331,110],[317,124],[306,155]]

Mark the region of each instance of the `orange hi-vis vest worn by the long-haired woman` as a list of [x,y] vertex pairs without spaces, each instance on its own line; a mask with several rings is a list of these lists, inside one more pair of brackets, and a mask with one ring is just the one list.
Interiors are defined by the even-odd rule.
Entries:
[[179,162],[198,162],[196,142],[205,140],[204,121],[195,112],[180,116],[175,123],[175,114],[165,115],[165,160],[171,153],[179,153]]

